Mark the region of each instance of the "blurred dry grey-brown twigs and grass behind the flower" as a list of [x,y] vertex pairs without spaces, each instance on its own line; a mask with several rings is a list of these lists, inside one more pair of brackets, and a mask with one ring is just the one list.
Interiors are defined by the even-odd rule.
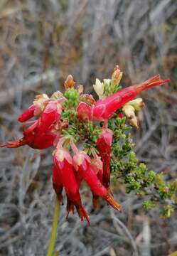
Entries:
[[[141,127],[133,131],[140,161],[176,177],[177,2],[175,0],[1,0],[0,142],[21,137],[16,117],[36,94],[63,90],[69,73],[92,92],[95,78],[109,78],[114,65],[122,86],[160,73],[169,85],[143,93]],[[51,149],[24,146],[0,151],[0,255],[45,255],[54,192]],[[177,250],[176,214],[146,213],[142,200],[114,183],[123,213],[101,203],[92,211],[82,188],[91,227],[61,208],[56,250],[70,256],[165,256]]]

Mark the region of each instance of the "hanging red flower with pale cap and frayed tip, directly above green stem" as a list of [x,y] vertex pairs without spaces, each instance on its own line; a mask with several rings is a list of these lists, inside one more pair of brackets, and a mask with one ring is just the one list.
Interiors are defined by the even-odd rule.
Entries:
[[73,169],[72,157],[66,149],[59,147],[54,151],[53,162],[57,170],[55,175],[60,176],[60,181],[62,182],[68,196],[68,214],[70,210],[73,211],[74,204],[80,219],[83,220],[85,218],[88,225],[90,225],[88,215],[81,203],[79,187]]

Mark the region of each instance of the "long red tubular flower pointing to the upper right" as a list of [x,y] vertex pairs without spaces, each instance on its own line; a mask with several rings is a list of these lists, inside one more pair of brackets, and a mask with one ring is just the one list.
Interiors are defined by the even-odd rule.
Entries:
[[100,121],[109,119],[112,114],[122,107],[129,100],[133,100],[136,95],[138,95],[143,90],[148,90],[151,87],[163,85],[170,80],[161,80],[159,75],[146,80],[139,85],[132,85],[118,92],[110,95],[104,100],[98,100],[96,104],[92,107],[92,118]]

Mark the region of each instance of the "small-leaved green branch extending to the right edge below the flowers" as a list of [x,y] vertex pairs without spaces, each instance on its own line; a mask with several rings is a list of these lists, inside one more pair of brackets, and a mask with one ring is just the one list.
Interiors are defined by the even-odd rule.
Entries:
[[[161,215],[169,217],[176,204],[177,181],[166,182],[163,174],[149,171],[145,164],[139,163],[133,151],[131,127],[125,118],[109,119],[109,129],[113,131],[111,174],[113,178],[120,178],[126,186],[126,192],[134,191],[137,196],[148,196],[144,201],[146,209],[152,209],[159,203]],[[167,201],[171,203],[166,206]],[[164,206],[165,205],[165,206]]]

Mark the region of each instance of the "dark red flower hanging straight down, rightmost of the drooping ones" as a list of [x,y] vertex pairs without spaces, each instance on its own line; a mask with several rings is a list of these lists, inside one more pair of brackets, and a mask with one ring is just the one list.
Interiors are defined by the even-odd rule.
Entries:
[[106,188],[109,188],[110,183],[110,151],[112,146],[112,131],[108,128],[103,128],[99,139],[97,140],[97,149],[102,159],[103,174],[102,183]]

